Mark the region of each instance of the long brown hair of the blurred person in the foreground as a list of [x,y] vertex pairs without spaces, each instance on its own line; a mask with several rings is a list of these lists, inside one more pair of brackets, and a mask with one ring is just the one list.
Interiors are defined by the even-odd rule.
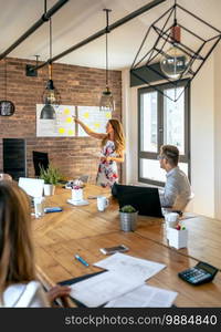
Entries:
[[13,181],[0,181],[0,297],[9,284],[35,279],[31,206]]

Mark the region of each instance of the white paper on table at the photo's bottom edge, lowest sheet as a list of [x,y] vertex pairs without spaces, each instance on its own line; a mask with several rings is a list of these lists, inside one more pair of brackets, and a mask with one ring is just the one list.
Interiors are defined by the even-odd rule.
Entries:
[[109,301],[105,308],[169,308],[177,294],[173,291],[144,284]]

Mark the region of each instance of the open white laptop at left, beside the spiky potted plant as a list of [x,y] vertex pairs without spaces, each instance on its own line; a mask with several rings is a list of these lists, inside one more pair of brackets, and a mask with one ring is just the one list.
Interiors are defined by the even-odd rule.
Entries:
[[20,177],[19,187],[31,197],[42,197],[44,180],[40,178]]

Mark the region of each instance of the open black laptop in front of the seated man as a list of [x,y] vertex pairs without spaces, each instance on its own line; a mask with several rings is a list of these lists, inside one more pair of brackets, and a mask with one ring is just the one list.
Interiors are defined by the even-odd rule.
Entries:
[[119,208],[131,205],[139,215],[162,217],[158,188],[115,184],[112,194],[117,198]]

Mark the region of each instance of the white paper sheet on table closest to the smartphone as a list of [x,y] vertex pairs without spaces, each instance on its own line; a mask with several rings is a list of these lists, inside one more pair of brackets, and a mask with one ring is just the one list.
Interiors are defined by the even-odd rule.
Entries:
[[109,271],[117,271],[124,276],[135,276],[139,280],[147,280],[166,268],[166,264],[147,259],[140,259],[126,253],[114,253],[94,263],[95,267]]

